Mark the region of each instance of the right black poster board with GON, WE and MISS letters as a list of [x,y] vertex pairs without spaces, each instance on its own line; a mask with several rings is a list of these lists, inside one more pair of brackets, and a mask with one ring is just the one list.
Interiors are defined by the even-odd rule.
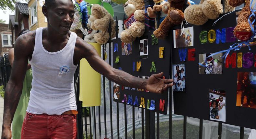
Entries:
[[255,39],[234,36],[238,13],[173,28],[174,114],[256,129]]

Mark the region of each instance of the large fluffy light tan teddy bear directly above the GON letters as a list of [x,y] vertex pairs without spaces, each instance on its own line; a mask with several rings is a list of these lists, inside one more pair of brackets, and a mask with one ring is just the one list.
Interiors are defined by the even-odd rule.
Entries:
[[[233,11],[235,7],[225,0],[225,13]],[[221,0],[201,0],[199,5],[190,5],[184,11],[185,20],[194,25],[203,25],[208,19],[216,19],[223,12]]]

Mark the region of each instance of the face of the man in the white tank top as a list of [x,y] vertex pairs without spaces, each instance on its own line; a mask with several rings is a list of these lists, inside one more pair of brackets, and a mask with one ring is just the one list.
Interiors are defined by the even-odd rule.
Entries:
[[71,0],[55,0],[46,7],[47,21],[56,32],[66,35],[74,21],[74,5]]

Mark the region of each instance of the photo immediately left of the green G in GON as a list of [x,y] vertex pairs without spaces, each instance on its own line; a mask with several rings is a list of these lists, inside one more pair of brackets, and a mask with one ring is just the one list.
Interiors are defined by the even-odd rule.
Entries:
[[193,27],[173,30],[173,34],[174,48],[194,46]]

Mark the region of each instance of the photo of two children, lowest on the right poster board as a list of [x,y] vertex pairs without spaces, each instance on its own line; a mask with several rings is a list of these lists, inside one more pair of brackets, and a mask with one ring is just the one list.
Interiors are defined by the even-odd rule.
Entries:
[[210,120],[226,122],[226,91],[209,90]]

